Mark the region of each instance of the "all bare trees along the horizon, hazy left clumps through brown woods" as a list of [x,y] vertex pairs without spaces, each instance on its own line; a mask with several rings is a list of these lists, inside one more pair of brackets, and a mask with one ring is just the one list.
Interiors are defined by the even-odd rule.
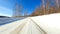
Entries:
[[[25,16],[46,15],[46,14],[59,13],[60,12],[60,0],[41,0],[41,1],[42,1],[41,6],[37,6],[35,8],[35,11],[31,15],[28,15],[28,12],[26,10],[24,12],[24,17]],[[22,10],[22,5],[19,5],[16,3],[13,16],[14,17],[22,16],[21,10]]]

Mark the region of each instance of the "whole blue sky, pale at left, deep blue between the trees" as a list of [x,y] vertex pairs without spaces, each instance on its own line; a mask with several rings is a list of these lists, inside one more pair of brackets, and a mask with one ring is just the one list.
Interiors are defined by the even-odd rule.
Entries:
[[12,16],[15,2],[21,4],[23,12],[32,13],[36,6],[40,5],[40,0],[0,0],[0,15]]

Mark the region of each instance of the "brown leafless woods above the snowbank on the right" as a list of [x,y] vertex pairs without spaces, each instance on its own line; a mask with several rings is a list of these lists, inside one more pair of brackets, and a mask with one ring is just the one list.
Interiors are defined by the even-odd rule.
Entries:
[[[52,4],[50,1],[55,1]],[[51,5],[50,5],[51,4]],[[31,16],[45,15],[60,12],[60,0],[42,0],[41,7],[35,9]]]

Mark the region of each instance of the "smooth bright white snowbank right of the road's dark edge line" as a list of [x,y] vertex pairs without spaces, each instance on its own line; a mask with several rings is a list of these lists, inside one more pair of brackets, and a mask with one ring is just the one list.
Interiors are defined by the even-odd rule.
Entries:
[[32,17],[48,34],[60,34],[60,13]]

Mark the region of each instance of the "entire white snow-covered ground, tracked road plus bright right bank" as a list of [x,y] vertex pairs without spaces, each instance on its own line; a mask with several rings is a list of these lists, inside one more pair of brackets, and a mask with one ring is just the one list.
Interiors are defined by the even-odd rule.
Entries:
[[[41,34],[38,27],[41,27],[47,34],[60,34],[60,13],[28,17],[0,26],[0,34],[17,34],[17,32],[19,34]],[[42,34],[44,34],[43,31]]]

